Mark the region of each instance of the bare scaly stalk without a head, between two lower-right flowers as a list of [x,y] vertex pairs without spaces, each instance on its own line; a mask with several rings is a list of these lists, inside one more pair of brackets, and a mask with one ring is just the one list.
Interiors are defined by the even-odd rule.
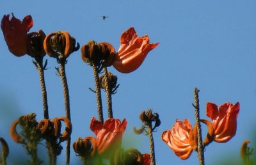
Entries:
[[195,116],[196,116],[196,125],[197,125],[197,138],[198,138],[198,159],[199,164],[204,165],[204,146],[202,142],[202,129],[200,124],[200,116],[199,116],[199,90],[195,88]]

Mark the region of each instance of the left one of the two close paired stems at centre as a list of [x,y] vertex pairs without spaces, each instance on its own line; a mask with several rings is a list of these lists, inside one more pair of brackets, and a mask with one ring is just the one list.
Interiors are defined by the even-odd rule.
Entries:
[[93,75],[95,81],[95,91],[96,91],[96,98],[97,98],[97,107],[98,107],[98,114],[99,114],[99,122],[103,123],[103,112],[102,112],[102,100],[101,100],[101,93],[100,93],[100,81],[99,81],[99,74],[97,71],[97,67],[93,64]]

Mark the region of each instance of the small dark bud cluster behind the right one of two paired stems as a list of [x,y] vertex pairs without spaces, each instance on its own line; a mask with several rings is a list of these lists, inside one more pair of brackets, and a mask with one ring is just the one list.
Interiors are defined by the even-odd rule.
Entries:
[[[99,77],[99,81],[100,81],[100,88],[104,89],[105,91],[107,90],[107,86],[106,86],[106,81],[105,81],[105,77],[104,75],[101,75]],[[109,90],[111,91],[111,94],[115,94],[117,88],[119,87],[120,84],[117,84],[117,76],[111,74],[111,72],[108,72],[108,85],[109,85]]]

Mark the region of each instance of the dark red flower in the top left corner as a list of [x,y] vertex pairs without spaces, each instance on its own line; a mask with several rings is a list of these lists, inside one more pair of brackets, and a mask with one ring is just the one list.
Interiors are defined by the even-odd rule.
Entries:
[[12,14],[4,15],[1,21],[1,29],[8,48],[15,56],[23,56],[27,54],[27,33],[33,26],[33,20],[30,15],[26,15],[22,22],[16,19]]

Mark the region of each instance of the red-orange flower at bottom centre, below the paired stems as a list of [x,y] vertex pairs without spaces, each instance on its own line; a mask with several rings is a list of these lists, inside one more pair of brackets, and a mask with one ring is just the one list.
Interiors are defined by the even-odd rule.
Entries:
[[90,123],[90,129],[97,136],[98,153],[106,152],[110,148],[119,147],[126,125],[127,121],[125,119],[121,123],[119,119],[108,118],[103,124],[93,117]]

